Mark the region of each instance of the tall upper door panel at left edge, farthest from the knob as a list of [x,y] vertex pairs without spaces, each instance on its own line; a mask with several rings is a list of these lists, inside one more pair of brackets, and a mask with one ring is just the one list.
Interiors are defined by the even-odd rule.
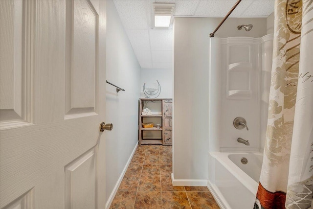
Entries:
[[25,63],[23,62],[23,2],[1,1],[0,123],[21,124],[25,116]]

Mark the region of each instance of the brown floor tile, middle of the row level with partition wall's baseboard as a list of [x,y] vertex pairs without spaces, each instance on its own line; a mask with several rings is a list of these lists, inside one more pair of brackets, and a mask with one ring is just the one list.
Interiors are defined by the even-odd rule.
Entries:
[[141,175],[138,191],[161,191],[160,175]]

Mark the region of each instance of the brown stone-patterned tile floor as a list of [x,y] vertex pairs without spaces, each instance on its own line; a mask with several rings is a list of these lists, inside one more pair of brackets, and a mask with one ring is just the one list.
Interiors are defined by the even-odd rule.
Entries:
[[206,186],[172,186],[172,146],[141,145],[110,209],[219,209]]

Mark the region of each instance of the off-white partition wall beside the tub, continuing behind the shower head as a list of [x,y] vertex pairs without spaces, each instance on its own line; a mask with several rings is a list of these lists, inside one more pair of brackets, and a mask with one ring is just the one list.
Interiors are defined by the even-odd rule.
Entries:
[[[221,18],[175,18],[174,154],[175,180],[208,178],[209,34]],[[229,18],[215,37],[262,37],[266,18]],[[237,30],[253,24],[251,31]]]

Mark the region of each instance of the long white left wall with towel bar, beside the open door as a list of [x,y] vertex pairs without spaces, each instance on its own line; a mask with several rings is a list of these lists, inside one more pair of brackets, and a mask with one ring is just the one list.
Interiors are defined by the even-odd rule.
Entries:
[[[100,37],[101,38],[101,37]],[[138,140],[140,66],[112,1],[107,1],[106,201],[108,201]]]

